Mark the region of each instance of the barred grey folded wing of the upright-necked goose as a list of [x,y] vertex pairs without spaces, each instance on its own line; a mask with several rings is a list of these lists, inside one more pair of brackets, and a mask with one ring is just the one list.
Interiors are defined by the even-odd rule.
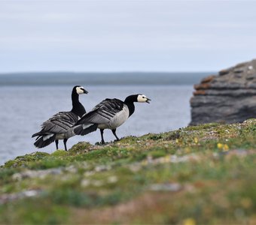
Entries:
[[44,135],[47,133],[66,133],[76,122],[78,121],[78,115],[72,112],[59,112],[44,121],[41,124],[41,131],[35,133],[33,136]]

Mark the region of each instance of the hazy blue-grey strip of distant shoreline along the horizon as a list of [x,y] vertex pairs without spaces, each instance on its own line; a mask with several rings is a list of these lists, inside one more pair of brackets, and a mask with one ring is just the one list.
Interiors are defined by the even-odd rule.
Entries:
[[215,72],[29,72],[0,74],[0,86],[66,86],[87,85],[193,85]]

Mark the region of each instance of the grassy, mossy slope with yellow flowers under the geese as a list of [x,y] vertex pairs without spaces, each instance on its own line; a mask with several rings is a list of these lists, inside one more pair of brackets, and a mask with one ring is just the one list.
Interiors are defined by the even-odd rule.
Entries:
[[256,119],[35,152],[0,168],[0,223],[256,223]]

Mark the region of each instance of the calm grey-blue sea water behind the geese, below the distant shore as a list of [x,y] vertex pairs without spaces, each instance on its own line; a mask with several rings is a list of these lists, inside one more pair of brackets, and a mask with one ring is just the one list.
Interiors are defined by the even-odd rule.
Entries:
[[[83,84],[82,84],[83,85]],[[80,95],[87,111],[105,98],[120,98],[142,93],[151,98],[151,104],[136,104],[135,113],[117,128],[117,136],[160,133],[186,126],[190,121],[189,100],[193,86],[84,86],[88,95]],[[0,164],[22,154],[38,151],[32,133],[40,130],[43,121],[59,111],[72,108],[72,86],[5,86],[0,89]],[[114,139],[111,130],[105,130],[105,141]],[[79,141],[91,143],[100,140],[97,130],[87,136],[74,136],[68,148]],[[62,141],[59,144],[63,148]],[[39,151],[53,152],[55,144]]]

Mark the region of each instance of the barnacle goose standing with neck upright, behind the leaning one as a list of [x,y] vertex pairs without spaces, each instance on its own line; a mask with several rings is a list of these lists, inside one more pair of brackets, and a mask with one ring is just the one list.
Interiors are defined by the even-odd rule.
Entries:
[[59,139],[63,139],[65,150],[67,151],[67,140],[69,137],[75,136],[72,126],[86,113],[83,105],[79,102],[79,95],[87,93],[82,86],[75,86],[72,89],[72,110],[56,113],[47,121],[44,121],[41,124],[41,130],[32,135],[32,137],[37,136],[34,143],[35,147],[43,148],[55,141],[56,149],[58,149]]

